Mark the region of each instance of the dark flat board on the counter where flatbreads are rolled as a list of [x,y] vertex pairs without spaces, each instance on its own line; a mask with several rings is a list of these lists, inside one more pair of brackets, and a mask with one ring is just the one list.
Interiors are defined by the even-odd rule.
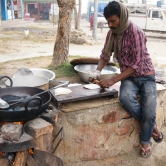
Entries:
[[68,87],[72,92],[65,95],[55,95],[54,90],[50,91],[52,95],[52,102],[57,108],[61,108],[62,103],[68,103],[79,100],[86,100],[98,98],[103,96],[117,97],[118,91],[115,89],[85,89],[83,85]]

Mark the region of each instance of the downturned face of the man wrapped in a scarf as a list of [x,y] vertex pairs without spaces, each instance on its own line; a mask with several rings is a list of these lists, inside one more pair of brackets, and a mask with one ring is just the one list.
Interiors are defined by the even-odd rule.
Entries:
[[117,15],[109,16],[108,18],[106,18],[106,20],[110,29],[115,30],[120,25],[120,19]]

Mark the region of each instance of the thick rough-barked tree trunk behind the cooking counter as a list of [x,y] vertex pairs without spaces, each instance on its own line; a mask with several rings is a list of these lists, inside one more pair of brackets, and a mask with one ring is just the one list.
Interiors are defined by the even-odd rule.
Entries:
[[56,41],[54,45],[52,66],[61,65],[68,60],[71,17],[75,0],[57,0],[59,6],[59,20]]

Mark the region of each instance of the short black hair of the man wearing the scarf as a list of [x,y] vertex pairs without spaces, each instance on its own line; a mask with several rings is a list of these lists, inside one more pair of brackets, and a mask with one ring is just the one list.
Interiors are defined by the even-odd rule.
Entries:
[[120,5],[116,1],[109,2],[108,5],[104,8],[105,18],[113,15],[117,15],[120,18]]

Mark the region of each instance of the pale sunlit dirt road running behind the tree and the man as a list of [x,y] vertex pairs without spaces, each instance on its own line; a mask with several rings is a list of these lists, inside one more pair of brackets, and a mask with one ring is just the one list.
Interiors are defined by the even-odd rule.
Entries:
[[[28,38],[24,35],[26,28],[30,29]],[[89,30],[89,22],[86,20],[81,20],[81,29],[87,35],[92,35],[92,31]],[[46,21],[9,20],[2,21],[0,30],[0,62],[53,54],[57,25],[53,26],[52,23]],[[95,45],[70,44],[69,55],[99,57],[107,31],[108,28],[104,28],[103,32],[99,28],[97,29]],[[165,46],[166,40],[164,39],[148,38],[147,48],[155,64],[166,64]]]

